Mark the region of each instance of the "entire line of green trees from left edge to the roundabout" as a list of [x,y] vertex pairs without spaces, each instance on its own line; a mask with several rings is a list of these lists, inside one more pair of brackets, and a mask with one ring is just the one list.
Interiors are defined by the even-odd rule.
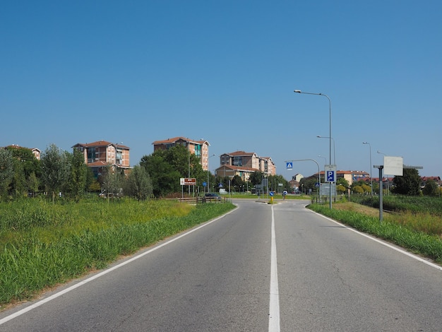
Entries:
[[[37,160],[27,148],[0,148],[0,199],[45,192],[53,200],[62,193],[78,201],[88,191],[103,192],[107,196],[124,194],[139,200],[177,196],[183,189],[179,183],[181,177],[196,178],[197,192],[208,191],[207,182],[211,184],[210,191],[222,186],[243,192],[261,184],[265,174],[254,172],[249,182],[239,176],[215,177],[203,170],[199,158],[185,146],[176,146],[145,155],[129,174],[108,165],[95,179],[90,167],[85,165],[83,153],[76,149],[69,153],[53,144]],[[287,180],[280,175],[267,177],[267,183],[264,191],[289,188]]]

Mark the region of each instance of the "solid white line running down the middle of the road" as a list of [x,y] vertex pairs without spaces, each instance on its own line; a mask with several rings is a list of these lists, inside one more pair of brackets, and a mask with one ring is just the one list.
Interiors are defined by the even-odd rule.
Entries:
[[272,235],[270,250],[270,305],[268,315],[268,331],[280,331],[280,292],[277,285],[277,257],[276,257],[276,233],[275,214],[272,206]]

